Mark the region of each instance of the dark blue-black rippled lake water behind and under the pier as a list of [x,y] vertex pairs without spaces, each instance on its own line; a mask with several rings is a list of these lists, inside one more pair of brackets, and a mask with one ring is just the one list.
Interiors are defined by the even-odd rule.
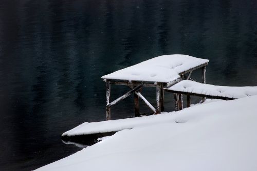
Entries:
[[[0,170],[80,150],[60,135],[105,119],[101,76],[163,54],[209,59],[207,83],[256,86],[256,1],[1,0]],[[153,92],[142,93],[154,103]],[[113,119],[133,113],[131,100]]]

